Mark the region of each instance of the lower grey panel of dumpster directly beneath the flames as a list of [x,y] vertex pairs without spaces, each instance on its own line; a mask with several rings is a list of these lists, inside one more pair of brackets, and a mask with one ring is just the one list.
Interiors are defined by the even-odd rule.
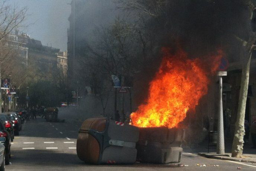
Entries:
[[180,147],[159,148],[154,146],[138,145],[137,160],[145,163],[166,164],[178,163],[183,149]]

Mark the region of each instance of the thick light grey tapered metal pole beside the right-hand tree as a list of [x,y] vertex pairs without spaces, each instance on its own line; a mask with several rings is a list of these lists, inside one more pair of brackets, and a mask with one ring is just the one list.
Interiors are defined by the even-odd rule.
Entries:
[[223,126],[223,104],[222,104],[222,77],[219,76],[219,112],[218,112],[218,141],[217,141],[217,154],[225,154],[224,145],[224,126]]

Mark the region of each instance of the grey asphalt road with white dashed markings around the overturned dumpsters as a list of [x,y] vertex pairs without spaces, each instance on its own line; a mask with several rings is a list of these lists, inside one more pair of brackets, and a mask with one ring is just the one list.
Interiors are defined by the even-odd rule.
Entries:
[[[154,165],[87,165],[76,155],[76,138],[79,126],[70,123],[45,122],[44,119],[30,120],[22,125],[19,136],[15,136],[11,147],[10,171],[169,171],[169,170],[256,170],[256,165],[222,161],[183,153],[183,167],[177,164]],[[205,167],[198,166],[204,165]],[[185,166],[188,165],[188,166]],[[214,167],[214,165],[219,165]]]

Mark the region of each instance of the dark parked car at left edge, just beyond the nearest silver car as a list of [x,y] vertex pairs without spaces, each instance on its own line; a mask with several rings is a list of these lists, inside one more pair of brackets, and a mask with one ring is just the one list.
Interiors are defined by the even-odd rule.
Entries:
[[[5,141],[2,142],[5,147],[5,164],[8,165],[11,158],[11,136],[10,133],[6,130],[3,122],[0,120],[0,138],[4,137]],[[1,171],[1,170],[0,170]]]

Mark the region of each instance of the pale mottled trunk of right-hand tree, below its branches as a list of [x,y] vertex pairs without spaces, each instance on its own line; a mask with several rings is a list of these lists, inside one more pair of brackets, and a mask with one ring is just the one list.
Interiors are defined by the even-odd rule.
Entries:
[[247,91],[248,91],[248,84],[249,84],[249,73],[250,73],[250,61],[252,52],[245,53],[248,55],[246,57],[246,62],[243,65],[242,69],[242,77],[241,77],[241,86],[240,86],[240,93],[239,93],[239,103],[238,103],[238,110],[237,110],[237,120],[235,124],[235,132],[234,132],[234,139],[232,145],[232,157],[240,158],[243,154],[243,138],[244,138],[244,116],[245,116],[245,108],[246,108],[246,100],[247,100]]

